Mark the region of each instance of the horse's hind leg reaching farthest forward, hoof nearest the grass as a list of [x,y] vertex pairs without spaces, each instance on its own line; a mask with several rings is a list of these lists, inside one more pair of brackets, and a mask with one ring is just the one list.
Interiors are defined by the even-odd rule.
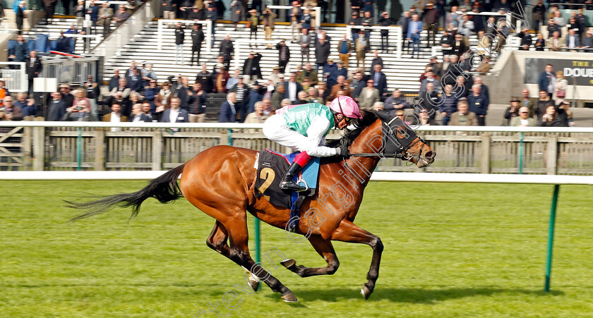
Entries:
[[[244,267],[251,271],[252,275],[255,275],[263,281],[266,285],[270,286],[272,291],[282,294],[282,300],[286,302],[296,302],[296,297],[286,286],[284,286],[278,279],[270,275],[268,271],[265,271],[256,262],[253,261],[249,254],[248,248],[248,232],[247,232],[247,219],[246,213],[229,214],[233,215],[227,218],[222,226],[227,229],[229,236],[229,259],[231,259],[239,266]],[[216,236],[216,235],[215,235]],[[223,254],[224,255],[224,254]],[[226,255],[225,255],[226,256]]]

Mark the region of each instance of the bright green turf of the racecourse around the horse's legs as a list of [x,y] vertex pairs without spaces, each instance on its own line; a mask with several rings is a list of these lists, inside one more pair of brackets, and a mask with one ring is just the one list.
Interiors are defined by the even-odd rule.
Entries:
[[[385,245],[376,291],[359,294],[371,248],[335,243],[340,269],[301,279],[271,273],[299,302],[266,286],[234,288],[244,271],[205,245],[213,221],[186,202],[116,209],[65,224],[63,199],[130,192],[143,182],[6,182],[0,214],[0,317],[192,317],[236,291],[234,317],[586,317],[593,312],[593,199],[563,186],[551,293],[542,292],[551,185],[371,183],[357,224]],[[251,219],[253,221],[253,219]],[[250,222],[252,227],[252,222]],[[262,226],[263,250],[323,266],[309,243]],[[251,244],[253,250],[253,243]],[[236,301],[234,302],[236,305]],[[221,316],[227,314],[218,305]],[[216,317],[212,312],[202,317]]]

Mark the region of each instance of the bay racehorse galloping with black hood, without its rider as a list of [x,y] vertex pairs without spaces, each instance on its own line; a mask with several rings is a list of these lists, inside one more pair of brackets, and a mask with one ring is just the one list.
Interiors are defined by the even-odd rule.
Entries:
[[[364,188],[381,157],[397,157],[421,168],[431,164],[436,154],[409,126],[388,113],[366,112],[354,125],[354,130],[333,141],[334,147],[338,142],[347,145],[352,157],[321,160],[318,195],[304,201],[301,211],[306,213],[302,214],[304,216],[297,227],[297,233],[307,234],[307,239],[325,259],[327,266],[304,267],[296,265],[294,259],[285,259],[282,265],[301,277],[331,275],[340,265],[332,240],[369,245],[373,248],[373,258],[366,276],[368,281],[361,290],[364,298],[369,298],[378,279],[383,243],[378,236],[354,224]],[[264,197],[256,197],[258,176],[254,163],[257,157],[258,152],[251,149],[231,146],[208,148],[185,164],[150,181],[138,192],[110,195],[92,202],[68,202],[71,207],[86,209],[85,214],[71,221],[118,206],[132,207],[133,218],[138,214],[140,204],[149,197],[165,203],[183,196],[216,219],[206,241],[208,247],[245,269],[253,269],[256,263],[248,250],[246,211],[277,228],[287,228],[289,223],[289,209],[276,207]],[[284,301],[296,301],[292,291],[265,270],[258,269],[257,277],[272,291],[281,293]],[[253,270],[248,280],[257,291],[259,280],[253,277]]]

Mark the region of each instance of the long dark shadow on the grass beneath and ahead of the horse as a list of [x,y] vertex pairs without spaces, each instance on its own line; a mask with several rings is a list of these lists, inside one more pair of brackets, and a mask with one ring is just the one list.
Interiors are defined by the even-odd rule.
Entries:
[[[359,299],[364,300],[359,289],[302,289],[300,291],[293,290],[294,295],[300,301],[314,301],[325,300],[330,302],[337,302],[343,300]],[[498,293],[513,293],[522,295],[536,295],[536,296],[555,296],[564,295],[563,291],[550,291],[546,293],[541,290],[528,290],[520,288],[377,288],[371,295],[369,300],[378,301],[389,300],[390,302],[411,302],[431,304],[441,302],[444,300],[459,299],[474,296],[491,296]]]

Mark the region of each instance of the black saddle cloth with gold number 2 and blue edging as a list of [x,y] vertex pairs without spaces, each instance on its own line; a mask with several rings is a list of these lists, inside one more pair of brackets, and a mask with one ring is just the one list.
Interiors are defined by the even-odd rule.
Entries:
[[321,161],[318,157],[312,157],[309,164],[299,171],[298,176],[294,176],[295,182],[309,190],[294,193],[280,190],[280,181],[284,178],[294,157],[299,153],[280,154],[270,149],[260,151],[257,164],[256,197],[263,196],[271,204],[290,208],[299,195],[315,195],[319,176],[319,161]]

